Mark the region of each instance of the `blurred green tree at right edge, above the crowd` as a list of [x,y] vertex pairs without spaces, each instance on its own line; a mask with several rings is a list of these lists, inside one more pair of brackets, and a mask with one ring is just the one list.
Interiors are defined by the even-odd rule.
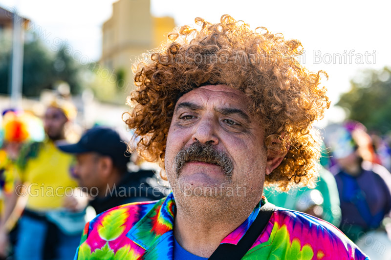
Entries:
[[336,105],[348,110],[348,118],[362,122],[369,131],[391,130],[391,69],[368,70],[357,75]]

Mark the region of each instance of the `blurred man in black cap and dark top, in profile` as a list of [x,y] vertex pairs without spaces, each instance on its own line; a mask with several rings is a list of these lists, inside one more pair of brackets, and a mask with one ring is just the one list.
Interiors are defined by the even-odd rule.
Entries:
[[97,214],[121,204],[163,197],[160,191],[145,183],[153,177],[152,171],[128,172],[127,146],[110,128],[92,128],[78,143],[58,147],[76,155],[75,175],[79,185],[96,197],[90,205]]

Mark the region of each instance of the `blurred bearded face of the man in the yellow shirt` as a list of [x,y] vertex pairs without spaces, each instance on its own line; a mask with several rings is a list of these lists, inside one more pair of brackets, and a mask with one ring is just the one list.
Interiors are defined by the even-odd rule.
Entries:
[[67,121],[64,112],[60,108],[48,107],[43,116],[45,133],[51,140],[64,139],[64,126]]

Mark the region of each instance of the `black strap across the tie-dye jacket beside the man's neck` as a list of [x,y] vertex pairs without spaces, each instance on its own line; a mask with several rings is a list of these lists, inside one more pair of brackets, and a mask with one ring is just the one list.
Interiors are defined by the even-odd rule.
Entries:
[[241,259],[254,244],[255,240],[261,235],[261,232],[266,227],[267,222],[273,214],[274,208],[275,205],[272,203],[266,202],[263,204],[257,218],[251,224],[239,243],[237,245],[228,243],[220,244],[209,260]]

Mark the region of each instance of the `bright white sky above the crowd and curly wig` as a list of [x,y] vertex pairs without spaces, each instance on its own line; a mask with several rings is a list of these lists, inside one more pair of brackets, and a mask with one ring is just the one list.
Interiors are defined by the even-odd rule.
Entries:
[[[130,0],[132,1],[132,0]],[[44,41],[71,44],[91,60],[101,55],[104,21],[114,0],[0,0],[3,8],[19,13],[45,30]],[[264,1],[264,0],[151,0],[154,16],[172,16],[178,25],[194,25],[195,17],[218,22],[229,14],[252,28],[266,27],[285,39],[298,39],[304,47],[302,62],[312,70],[325,70],[332,104],[348,91],[349,81],[365,69],[391,66],[389,33],[391,1]],[[130,13],[131,14],[131,13]],[[326,121],[342,120],[341,109],[331,108]]]

